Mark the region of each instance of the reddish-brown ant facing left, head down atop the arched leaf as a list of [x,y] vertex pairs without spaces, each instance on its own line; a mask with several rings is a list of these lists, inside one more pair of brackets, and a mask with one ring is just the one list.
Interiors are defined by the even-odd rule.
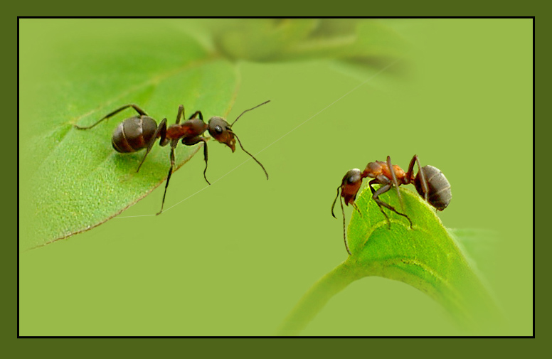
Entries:
[[[414,176],[414,164],[418,164],[418,174],[416,176]],[[361,188],[362,179],[366,177],[373,178],[373,180],[368,182],[368,186],[370,186],[370,191],[372,191],[373,200],[375,200],[378,204],[381,213],[386,216],[390,229],[391,220],[389,220],[388,215],[383,211],[383,207],[405,217],[410,223],[410,228],[412,228],[412,220],[410,220],[408,215],[398,212],[398,210],[396,210],[392,205],[379,199],[379,196],[389,191],[391,187],[395,186],[397,189],[397,195],[401,206],[403,206],[403,199],[400,197],[398,186],[403,184],[407,185],[409,183],[413,183],[416,187],[416,191],[418,191],[418,193],[423,196],[425,201],[432,205],[436,210],[444,210],[447,208],[447,205],[449,205],[450,199],[452,198],[450,183],[438,168],[433,166],[420,166],[418,156],[414,155],[408,165],[408,171],[405,172],[403,171],[403,168],[400,168],[397,165],[392,165],[391,157],[387,156],[386,162],[370,162],[366,165],[366,168],[364,168],[364,171],[362,172],[359,168],[354,168],[345,174],[343,180],[341,181],[341,186],[337,188],[337,195],[334,199],[334,203],[331,205],[331,215],[333,215],[334,218],[336,218],[334,215],[334,207],[336,200],[339,197],[339,190],[341,190],[341,197],[345,199],[345,205],[351,204],[355,210],[358,210],[359,213],[361,213],[359,208],[354,203],[354,200],[356,199],[356,193],[358,193]],[[374,184],[379,184],[381,186],[376,190],[372,186]],[[341,200],[341,198],[339,198],[339,203],[341,203],[341,212],[343,213],[343,239],[345,242],[345,248],[347,252],[351,254],[351,250],[349,250],[349,245],[346,240],[345,211],[343,208],[343,200]]]

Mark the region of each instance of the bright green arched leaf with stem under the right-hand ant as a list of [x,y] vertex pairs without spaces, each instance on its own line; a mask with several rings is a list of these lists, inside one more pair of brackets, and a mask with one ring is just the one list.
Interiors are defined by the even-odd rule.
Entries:
[[[479,333],[501,321],[497,305],[455,240],[443,227],[435,210],[420,196],[400,188],[404,210],[396,191],[381,200],[407,214],[413,222],[386,210],[389,223],[365,188],[356,200],[349,223],[351,255],[322,277],[303,296],[280,328],[296,335],[322,310],[324,304],[351,282],[378,276],[410,284],[440,303],[461,328]],[[370,323],[366,323],[367,326]]]

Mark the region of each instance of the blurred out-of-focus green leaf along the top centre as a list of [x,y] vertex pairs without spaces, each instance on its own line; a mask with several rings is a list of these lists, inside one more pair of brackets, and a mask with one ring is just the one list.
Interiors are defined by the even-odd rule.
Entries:
[[406,42],[370,19],[243,19],[209,23],[215,48],[236,60],[335,59],[367,67],[404,55]]

